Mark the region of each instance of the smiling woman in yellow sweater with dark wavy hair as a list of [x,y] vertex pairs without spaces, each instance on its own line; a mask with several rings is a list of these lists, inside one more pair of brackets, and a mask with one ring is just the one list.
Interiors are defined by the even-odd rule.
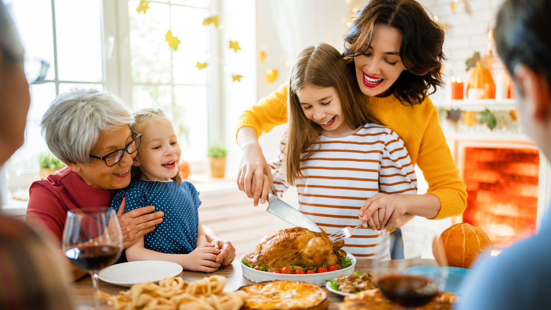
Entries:
[[[429,184],[424,195],[379,193],[366,200],[359,211],[364,227],[389,228],[404,213],[434,220],[460,215],[467,204],[466,188],[428,97],[444,84],[444,31],[414,0],[371,0],[344,41],[343,56],[363,93],[359,96],[372,115],[402,137]],[[239,118],[237,142],[244,154],[237,185],[255,205],[259,199],[264,203],[272,184],[258,136],[287,122],[287,91],[288,84],[281,85]],[[374,212],[379,212],[379,223],[368,223]]]

